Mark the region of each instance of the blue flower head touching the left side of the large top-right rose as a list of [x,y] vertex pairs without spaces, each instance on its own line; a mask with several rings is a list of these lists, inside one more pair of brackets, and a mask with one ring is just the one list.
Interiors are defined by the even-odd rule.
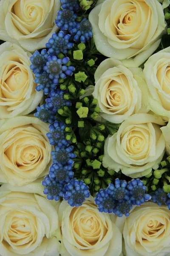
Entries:
[[89,20],[86,18],[82,19],[80,23],[77,23],[77,26],[71,30],[71,33],[74,35],[74,41],[78,42],[79,40],[85,44],[92,38],[92,26]]

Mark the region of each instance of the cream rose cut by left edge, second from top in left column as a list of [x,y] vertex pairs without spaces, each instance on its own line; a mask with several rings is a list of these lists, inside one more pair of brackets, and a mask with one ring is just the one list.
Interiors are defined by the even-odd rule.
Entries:
[[31,113],[42,99],[43,92],[35,90],[30,56],[16,44],[0,45],[0,118]]

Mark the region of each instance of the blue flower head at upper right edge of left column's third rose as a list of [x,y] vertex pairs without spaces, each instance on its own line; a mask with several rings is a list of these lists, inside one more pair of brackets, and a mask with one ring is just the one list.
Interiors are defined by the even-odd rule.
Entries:
[[63,122],[55,121],[53,125],[49,125],[50,132],[46,135],[51,145],[56,145],[59,148],[63,146],[68,147],[69,143],[65,140],[65,124]]

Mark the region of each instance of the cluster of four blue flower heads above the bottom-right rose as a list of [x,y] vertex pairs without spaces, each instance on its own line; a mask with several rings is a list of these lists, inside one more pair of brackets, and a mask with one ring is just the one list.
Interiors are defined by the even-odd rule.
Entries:
[[96,194],[95,203],[100,212],[128,217],[133,205],[139,206],[150,198],[140,179],[133,179],[128,184],[125,180],[116,179],[115,184],[111,183],[107,189],[100,189]]

